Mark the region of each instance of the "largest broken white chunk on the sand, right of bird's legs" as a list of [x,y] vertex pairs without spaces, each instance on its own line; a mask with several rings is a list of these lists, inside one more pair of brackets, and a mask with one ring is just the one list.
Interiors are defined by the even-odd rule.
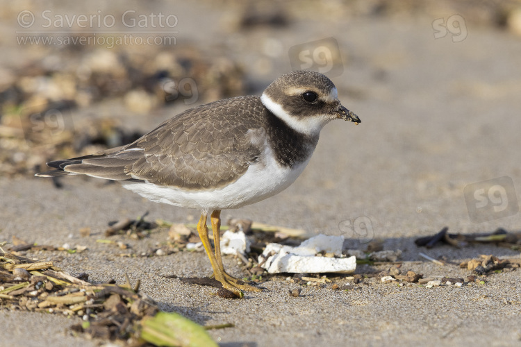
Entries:
[[307,239],[298,247],[267,244],[258,262],[268,273],[352,273],[356,269],[356,257],[316,256],[319,252],[342,255],[343,242],[343,236],[321,234]]

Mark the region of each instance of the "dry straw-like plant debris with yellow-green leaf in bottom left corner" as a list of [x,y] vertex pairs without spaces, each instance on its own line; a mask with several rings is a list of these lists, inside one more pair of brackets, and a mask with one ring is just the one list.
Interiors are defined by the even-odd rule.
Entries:
[[[3,246],[5,242],[1,245]],[[176,313],[159,312],[138,291],[139,281],[92,285],[53,266],[0,247],[0,307],[80,316],[73,332],[131,346],[217,346],[203,327]]]

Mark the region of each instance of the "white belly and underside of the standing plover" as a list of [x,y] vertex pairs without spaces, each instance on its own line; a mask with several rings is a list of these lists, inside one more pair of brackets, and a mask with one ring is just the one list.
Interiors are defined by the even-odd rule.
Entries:
[[151,183],[123,183],[126,189],[157,203],[168,203],[183,208],[197,208],[204,212],[240,208],[274,196],[289,187],[302,173],[311,158],[295,165],[281,167],[265,151],[262,160],[251,165],[238,180],[220,189],[183,190]]

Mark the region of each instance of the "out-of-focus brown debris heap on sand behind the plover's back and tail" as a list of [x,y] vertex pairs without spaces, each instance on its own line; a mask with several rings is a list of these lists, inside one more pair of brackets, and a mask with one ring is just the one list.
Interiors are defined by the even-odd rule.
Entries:
[[142,135],[124,130],[124,121],[115,118],[73,117],[92,105],[104,109],[122,104],[146,114],[172,103],[195,105],[245,93],[245,74],[236,62],[225,56],[205,58],[190,46],[138,51],[132,46],[74,47],[24,61],[15,69],[0,67],[2,176],[32,176],[51,158],[94,153]]

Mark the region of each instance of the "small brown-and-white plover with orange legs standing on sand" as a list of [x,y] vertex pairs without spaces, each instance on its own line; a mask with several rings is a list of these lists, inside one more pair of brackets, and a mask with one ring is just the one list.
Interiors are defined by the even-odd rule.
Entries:
[[[335,85],[313,71],[277,78],[262,96],[240,96],[192,108],[131,144],[47,163],[36,176],[84,174],[121,181],[158,203],[201,211],[199,237],[215,279],[238,296],[259,291],[222,265],[220,213],[286,189],[308,164],[320,130],[333,119],[360,123],[338,100]],[[210,214],[215,250],[208,238]]]

